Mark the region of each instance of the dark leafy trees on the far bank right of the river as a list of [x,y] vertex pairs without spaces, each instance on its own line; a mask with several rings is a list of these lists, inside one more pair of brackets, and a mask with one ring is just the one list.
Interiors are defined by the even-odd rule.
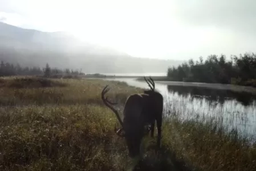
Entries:
[[256,87],[256,55],[246,53],[226,60],[225,55],[210,55],[204,61],[190,59],[178,67],[169,67],[168,78],[178,82],[238,84]]

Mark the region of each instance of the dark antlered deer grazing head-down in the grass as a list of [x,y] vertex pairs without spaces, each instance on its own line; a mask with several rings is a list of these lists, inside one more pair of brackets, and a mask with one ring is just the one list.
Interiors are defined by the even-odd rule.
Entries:
[[[115,113],[117,120],[119,120],[121,128],[116,133],[125,138],[129,156],[132,158],[139,156],[143,137],[150,131],[151,137],[153,137],[155,122],[157,124],[157,147],[160,148],[163,97],[161,93],[155,91],[155,83],[151,77],[149,78],[150,80],[147,80],[144,76],[149,90],[144,90],[144,93],[135,93],[127,98],[123,111],[123,121],[112,106],[117,103],[104,97],[105,93],[109,91],[108,85],[101,92],[103,103]],[[121,134],[121,132],[123,133]]]

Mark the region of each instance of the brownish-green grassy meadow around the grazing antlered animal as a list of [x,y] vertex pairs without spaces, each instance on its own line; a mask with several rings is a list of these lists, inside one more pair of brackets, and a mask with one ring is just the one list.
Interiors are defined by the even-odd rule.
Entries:
[[[113,131],[117,120],[100,99],[106,84],[120,112],[128,95],[143,92],[96,79],[1,79],[0,170],[127,168],[125,141]],[[256,145],[235,131],[224,133],[218,125],[166,117],[159,158],[156,139],[146,137],[144,160],[135,170],[255,170]]]

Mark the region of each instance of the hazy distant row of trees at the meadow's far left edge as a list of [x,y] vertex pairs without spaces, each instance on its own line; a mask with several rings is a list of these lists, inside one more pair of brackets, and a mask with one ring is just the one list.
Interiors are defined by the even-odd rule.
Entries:
[[51,68],[49,64],[46,64],[46,67],[21,67],[19,64],[12,64],[9,62],[1,61],[0,64],[0,76],[16,76],[16,75],[38,75],[38,76],[58,76],[58,75],[84,75],[82,70],[70,70],[69,68],[66,69],[59,69],[59,68]]

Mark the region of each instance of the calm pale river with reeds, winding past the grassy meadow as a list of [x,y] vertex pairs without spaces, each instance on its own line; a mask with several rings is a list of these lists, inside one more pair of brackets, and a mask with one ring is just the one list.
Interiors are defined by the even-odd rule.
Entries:
[[[147,83],[136,79],[107,80],[148,88]],[[232,91],[227,85],[221,84],[208,84],[208,87],[177,82],[155,84],[156,89],[164,96],[164,113],[179,115],[183,120],[216,120],[229,131],[237,129],[239,135],[255,136],[256,96],[252,93]]]

